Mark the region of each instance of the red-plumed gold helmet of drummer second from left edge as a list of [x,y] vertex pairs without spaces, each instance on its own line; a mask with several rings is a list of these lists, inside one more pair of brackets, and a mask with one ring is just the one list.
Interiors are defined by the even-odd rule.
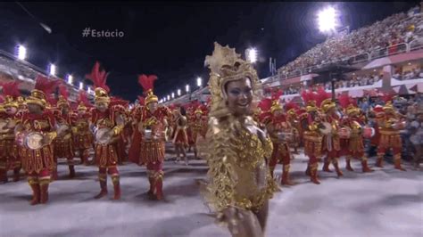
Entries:
[[35,88],[27,98],[27,103],[37,104],[42,108],[46,108],[46,102],[50,94],[54,92],[58,80],[51,80],[44,76],[38,75],[36,78]]

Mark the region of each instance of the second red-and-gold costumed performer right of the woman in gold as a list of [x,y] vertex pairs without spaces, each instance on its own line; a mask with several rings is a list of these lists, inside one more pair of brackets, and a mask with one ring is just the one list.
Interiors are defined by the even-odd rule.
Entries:
[[311,182],[320,184],[318,179],[318,159],[322,154],[323,135],[320,129],[328,129],[322,124],[322,117],[319,114],[318,104],[319,96],[311,91],[301,93],[306,105],[306,112],[300,116],[303,127],[304,154],[309,157],[309,163],[305,173],[310,176]]

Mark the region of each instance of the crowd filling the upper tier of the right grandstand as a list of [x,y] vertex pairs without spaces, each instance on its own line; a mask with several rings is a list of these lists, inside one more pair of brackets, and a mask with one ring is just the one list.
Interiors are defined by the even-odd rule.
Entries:
[[[423,16],[419,7],[414,7],[407,13],[396,13],[368,27],[352,30],[349,34],[329,37],[324,43],[314,46],[279,71],[286,74],[340,61],[357,54],[375,52],[390,45],[409,43],[419,36],[423,36]],[[394,47],[390,49],[393,50]]]

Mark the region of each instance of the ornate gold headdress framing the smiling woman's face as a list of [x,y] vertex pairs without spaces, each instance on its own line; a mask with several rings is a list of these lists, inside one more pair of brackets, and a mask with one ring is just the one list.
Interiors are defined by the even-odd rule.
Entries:
[[251,63],[241,59],[241,55],[237,54],[234,48],[229,48],[228,45],[223,47],[215,42],[214,51],[211,56],[206,56],[204,65],[211,70],[208,84],[211,92],[211,117],[221,118],[230,114],[226,105],[228,95],[225,91],[225,86],[230,81],[250,78],[254,99],[258,99],[260,81],[257,72]]

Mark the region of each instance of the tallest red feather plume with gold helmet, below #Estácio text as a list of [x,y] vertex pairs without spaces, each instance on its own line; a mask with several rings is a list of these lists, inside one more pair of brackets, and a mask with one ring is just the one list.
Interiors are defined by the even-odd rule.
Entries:
[[85,76],[94,83],[95,102],[110,102],[110,88],[106,85],[108,75],[109,73],[106,73],[104,69],[100,70],[100,62],[95,61],[91,74]]

